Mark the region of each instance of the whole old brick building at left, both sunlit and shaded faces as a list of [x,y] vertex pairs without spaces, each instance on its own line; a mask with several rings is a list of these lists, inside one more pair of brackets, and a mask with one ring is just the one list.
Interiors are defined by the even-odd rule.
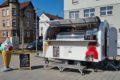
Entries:
[[[35,39],[36,14],[31,2],[19,3],[18,0],[5,0],[0,5],[0,43],[11,34],[21,43]],[[22,35],[23,33],[23,35]]]

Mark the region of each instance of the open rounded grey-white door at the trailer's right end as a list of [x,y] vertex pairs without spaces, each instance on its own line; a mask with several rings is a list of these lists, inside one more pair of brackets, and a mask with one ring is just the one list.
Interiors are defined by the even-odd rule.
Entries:
[[117,30],[114,27],[109,29],[108,35],[108,56],[113,57],[117,55]]

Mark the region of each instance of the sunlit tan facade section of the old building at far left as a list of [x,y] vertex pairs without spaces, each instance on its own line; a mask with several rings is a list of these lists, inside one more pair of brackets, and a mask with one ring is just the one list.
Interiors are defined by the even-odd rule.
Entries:
[[19,3],[17,0],[6,0],[0,5],[0,43],[11,34],[18,36],[19,31]]

